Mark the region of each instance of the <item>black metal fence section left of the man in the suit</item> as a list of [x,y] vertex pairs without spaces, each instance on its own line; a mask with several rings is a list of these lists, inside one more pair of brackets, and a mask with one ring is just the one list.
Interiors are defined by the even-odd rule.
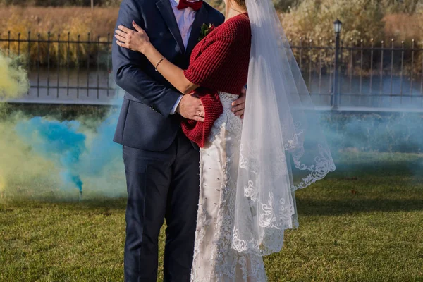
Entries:
[[0,33],[0,50],[18,60],[30,79],[27,95],[12,102],[110,104],[118,94],[110,75],[111,35]]

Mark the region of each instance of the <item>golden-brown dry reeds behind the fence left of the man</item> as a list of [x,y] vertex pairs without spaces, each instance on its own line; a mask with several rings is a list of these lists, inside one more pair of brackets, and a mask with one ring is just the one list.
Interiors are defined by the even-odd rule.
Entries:
[[[114,31],[114,25],[118,16],[117,8],[96,8],[91,11],[90,8],[37,8],[37,7],[13,7],[4,8],[0,11],[0,24],[4,26],[1,30],[1,38],[8,37],[8,31],[11,32],[11,39],[26,40],[28,32],[31,32],[30,39],[41,41],[57,40],[60,35],[61,41],[69,39],[77,41],[80,35],[80,41],[86,41],[88,32],[90,32],[91,41],[106,42],[107,34],[111,33],[109,40],[111,40]],[[48,37],[50,32],[50,37]],[[18,35],[20,34],[20,37]],[[96,63],[97,51],[104,61],[106,52],[109,51],[109,44],[76,44],[71,43],[50,43],[46,42],[32,42],[29,46],[26,42],[0,42],[0,49],[8,54],[23,55],[23,59],[30,59],[32,66],[38,62],[46,65],[47,61],[51,66],[56,66],[60,63],[62,66],[66,65],[69,60],[70,65],[78,63],[82,64],[90,57],[91,63]],[[39,49],[38,49],[39,48]],[[29,54],[29,56],[28,56]],[[26,63],[27,61],[25,61]]]

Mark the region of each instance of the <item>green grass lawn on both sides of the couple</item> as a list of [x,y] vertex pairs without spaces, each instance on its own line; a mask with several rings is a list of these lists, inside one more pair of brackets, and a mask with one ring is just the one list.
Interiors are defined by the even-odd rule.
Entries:
[[[423,281],[423,156],[337,159],[297,193],[300,228],[266,257],[269,281]],[[3,199],[0,281],[123,281],[124,214],[125,199]]]

